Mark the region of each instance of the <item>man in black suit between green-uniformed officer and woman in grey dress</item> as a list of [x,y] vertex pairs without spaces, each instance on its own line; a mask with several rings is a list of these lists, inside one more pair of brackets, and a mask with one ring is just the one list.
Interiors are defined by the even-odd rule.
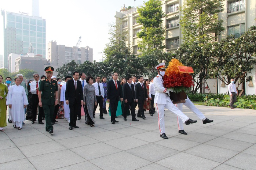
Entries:
[[67,81],[65,99],[66,104],[69,105],[70,109],[70,123],[69,130],[73,128],[79,128],[76,125],[77,114],[81,114],[81,105],[83,105],[83,88],[82,83],[77,81],[79,78],[79,73],[77,71],[73,72],[73,79]]

